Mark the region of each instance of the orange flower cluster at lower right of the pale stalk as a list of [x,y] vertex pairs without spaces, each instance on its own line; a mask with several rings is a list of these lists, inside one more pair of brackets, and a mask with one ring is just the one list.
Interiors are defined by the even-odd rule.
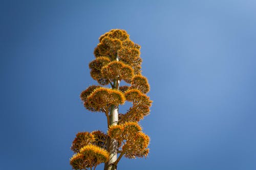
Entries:
[[121,148],[121,154],[127,158],[146,157],[150,138],[141,132],[142,128],[137,122],[126,122],[111,126],[108,135],[115,138]]

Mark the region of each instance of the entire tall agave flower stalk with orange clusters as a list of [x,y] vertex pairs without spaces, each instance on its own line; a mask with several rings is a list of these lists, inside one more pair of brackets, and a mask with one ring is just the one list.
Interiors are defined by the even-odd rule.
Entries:
[[[140,46],[130,40],[125,30],[111,30],[100,36],[90,62],[91,77],[98,85],[81,92],[84,107],[106,116],[107,133],[79,132],[72,143],[70,159],[74,169],[117,169],[122,158],[146,157],[150,138],[138,124],[150,113],[152,101],[147,79],[141,74]],[[132,106],[126,113],[118,108],[125,102]]]

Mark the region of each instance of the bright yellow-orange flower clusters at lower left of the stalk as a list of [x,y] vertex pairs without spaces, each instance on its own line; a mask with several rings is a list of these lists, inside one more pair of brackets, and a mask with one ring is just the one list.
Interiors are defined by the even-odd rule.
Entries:
[[109,159],[105,150],[107,135],[101,131],[79,132],[72,143],[71,150],[75,152],[70,159],[74,169],[87,169],[97,166]]

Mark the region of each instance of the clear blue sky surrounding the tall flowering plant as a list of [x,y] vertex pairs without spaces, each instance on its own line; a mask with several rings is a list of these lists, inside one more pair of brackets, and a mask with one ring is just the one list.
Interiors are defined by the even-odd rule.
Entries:
[[0,169],[71,169],[76,133],[106,131],[79,95],[111,29],[154,101],[148,158],[118,169],[256,169],[256,1],[1,1],[0,19]]

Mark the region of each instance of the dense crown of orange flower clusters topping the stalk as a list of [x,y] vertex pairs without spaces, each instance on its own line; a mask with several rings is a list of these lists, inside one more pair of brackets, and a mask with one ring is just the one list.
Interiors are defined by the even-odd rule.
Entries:
[[[111,30],[105,33],[94,50],[96,59],[89,64],[92,78],[101,85],[109,84],[114,79],[130,83],[133,74],[139,75],[141,72],[139,50],[140,46],[129,39],[126,31]],[[121,62],[109,64],[116,58]]]

